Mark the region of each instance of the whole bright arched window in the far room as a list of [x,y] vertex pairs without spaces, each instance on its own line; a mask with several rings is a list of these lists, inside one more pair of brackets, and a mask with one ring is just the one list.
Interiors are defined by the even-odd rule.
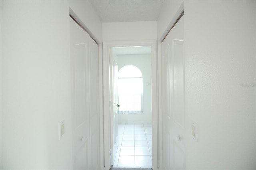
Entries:
[[119,113],[142,113],[142,73],[133,65],[118,72]]

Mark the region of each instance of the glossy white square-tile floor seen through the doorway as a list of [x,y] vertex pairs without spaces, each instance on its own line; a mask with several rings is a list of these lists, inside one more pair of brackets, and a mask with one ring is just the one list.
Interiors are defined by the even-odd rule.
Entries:
[[152,167],[152,124],[119,123],[114,167]]

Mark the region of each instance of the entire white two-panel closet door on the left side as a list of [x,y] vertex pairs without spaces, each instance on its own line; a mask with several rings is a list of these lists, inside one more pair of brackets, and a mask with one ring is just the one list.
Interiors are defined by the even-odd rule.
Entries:
[[98,45],[70,18],[74,170],[100,169]]

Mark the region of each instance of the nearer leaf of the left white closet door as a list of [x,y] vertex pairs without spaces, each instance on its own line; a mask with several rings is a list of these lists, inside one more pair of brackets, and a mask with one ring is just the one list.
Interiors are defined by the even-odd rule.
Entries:
[[70,19],[70,61],[72,80],[72,143],[74,169],[88,169],[90,158],[88,103],[88,37]]

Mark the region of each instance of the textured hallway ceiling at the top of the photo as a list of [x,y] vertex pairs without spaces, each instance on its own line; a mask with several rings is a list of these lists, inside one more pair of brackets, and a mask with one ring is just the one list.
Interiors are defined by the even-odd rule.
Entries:
[[102,22],[156,21],[163,0],[90,0]]

